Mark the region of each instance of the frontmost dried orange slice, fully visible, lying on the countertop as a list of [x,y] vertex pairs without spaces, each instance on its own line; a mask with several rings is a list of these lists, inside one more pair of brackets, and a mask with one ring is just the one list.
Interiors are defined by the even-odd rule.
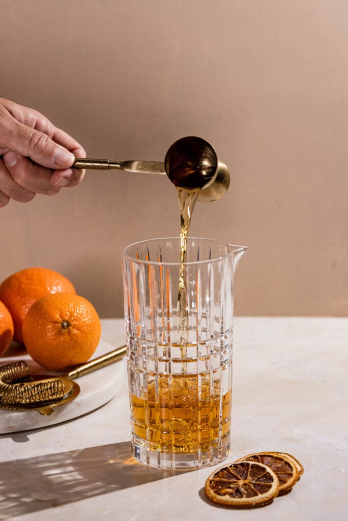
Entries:
[[204,490],[207,497],[219,505],[254,508],[274,500],[279,492],[279,480],[263,463],[240,461],[210,474]]

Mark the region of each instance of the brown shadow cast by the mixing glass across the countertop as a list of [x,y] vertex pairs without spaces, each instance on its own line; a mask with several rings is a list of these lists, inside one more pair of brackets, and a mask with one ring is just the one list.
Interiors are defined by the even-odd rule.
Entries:
[[65,505],[165,479],[180,472],[146,468],[130,442],[58,452],[0,464],[0,519]]

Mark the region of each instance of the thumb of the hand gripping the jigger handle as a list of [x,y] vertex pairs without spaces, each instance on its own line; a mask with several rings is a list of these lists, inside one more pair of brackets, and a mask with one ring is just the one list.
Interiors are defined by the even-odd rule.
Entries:
[[74,162],[74,155],[57,145],[44,132],[16,122],[11,132],[11,150],[30,157],[35,163],[47,168],[67,168]]

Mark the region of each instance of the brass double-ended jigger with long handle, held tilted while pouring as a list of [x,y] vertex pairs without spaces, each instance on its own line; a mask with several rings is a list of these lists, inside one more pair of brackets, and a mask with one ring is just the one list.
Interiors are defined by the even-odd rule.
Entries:
[[[190,142],[191,140],[191,142]],[[181,165],[187,163],[188,156],[192,153],[190,146],[193,146],[198,154],[197,157],[203,157],[207,159],[210,155],[210,159],[213,158],[212,168],[209,165],[201,165],[206,168],[206,178],[211,176],[210,179],[204,182],[204,188],[202,188],[200,195],[198,195],[198,201],[203,203],[210,203],[216,201],[227,192],[230,184],[230,173],[225,163],[218,161],[215,151],[207,141],[201,138],[182,138],[181,140],[183,147],[181,150]],[[178,154],[178,141],[173,143],[166,154],[166,162],[171,154]],[[213,153],[212,153],[213,150]],[[169,154],[168,154],[169,153]],[[187,166],[187,165],[186,165]],[[126,172],[133,173],[151,173],[159,175],[167,175],[165,163],[158,161],[114,161],[110,159],[90,159],[87,157],[78,157],[74,160],[72,168],[77,169],[88,169],[88,170],[123,170]],[[202,170],[201,170],[202,173]],[[210,182],[211,181],[211,182]]]

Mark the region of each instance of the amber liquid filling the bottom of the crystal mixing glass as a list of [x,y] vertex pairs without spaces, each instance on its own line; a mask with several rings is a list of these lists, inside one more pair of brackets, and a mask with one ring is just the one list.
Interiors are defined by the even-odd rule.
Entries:
[[209,375],[203,381],[198,375],[161,376],[158,394],[155,382],[148,383],[144,398],[132,395],[134,434],[148,439],[153,451],[208,451],[230,433],[231,390],[220,400],[219,387],[218,380],[210,389]]

